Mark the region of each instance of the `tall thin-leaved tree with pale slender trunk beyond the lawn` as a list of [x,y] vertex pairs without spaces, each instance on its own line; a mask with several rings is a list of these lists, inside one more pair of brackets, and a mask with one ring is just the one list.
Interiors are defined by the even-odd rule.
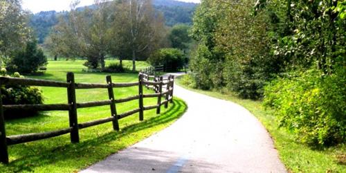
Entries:
[[151,0],[121,0],[114,5],[111,52],[120,60],[131,58],[136,71],[136,60],[145,60],[160,47],[165,35],[163,16],[156,14]]

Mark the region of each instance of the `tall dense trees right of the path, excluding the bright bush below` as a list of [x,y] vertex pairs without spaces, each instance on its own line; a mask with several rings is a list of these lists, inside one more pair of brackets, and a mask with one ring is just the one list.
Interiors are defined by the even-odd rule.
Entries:
[[[340,1],[202,1],[190,33],[210,55],[197,48],[192,57],[192,71],[206,81],[197,86],[225,85],[242,98],[260,99],[264,83],[284,71],[317,64],[316,69],[333,73],[346,57],[344,6]],[[219,82],[208,82],[212,71],[223,74]]]

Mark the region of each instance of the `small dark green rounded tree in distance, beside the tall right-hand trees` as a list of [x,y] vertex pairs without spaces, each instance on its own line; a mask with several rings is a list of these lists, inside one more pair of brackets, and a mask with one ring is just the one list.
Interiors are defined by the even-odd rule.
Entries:
[[172,44],[172,48],[179,48],[181,50],[188,48],[190,42],[192,41],[189,36],[188,30],[190,26],[185,24],[177,24],[173,26],[170,35],[168,38]]

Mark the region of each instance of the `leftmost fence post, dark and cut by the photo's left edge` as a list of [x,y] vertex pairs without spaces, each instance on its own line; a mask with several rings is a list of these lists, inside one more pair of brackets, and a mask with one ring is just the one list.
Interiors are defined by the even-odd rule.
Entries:
[[[1,86],[1,84],[0,84]],[[2,94],[0,90],[0,161],[8,163],[8,151],[6,142],[5,118],[3,117]]]

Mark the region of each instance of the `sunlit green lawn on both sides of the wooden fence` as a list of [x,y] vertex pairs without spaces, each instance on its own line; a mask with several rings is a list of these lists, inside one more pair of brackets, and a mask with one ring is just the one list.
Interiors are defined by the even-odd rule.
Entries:
[[[45,75],[27,76],[48,80],[66,81],[66,72],[75,73],[75,82],[93,82],[106,84],[107,73],[84,73],[84,61],[50,61]],[[110,61],[107,61],[107,64]],[[128,62],[125,62],[128,63]],[[145,63],[138,63],[143,67]],[[136,73],[111,74],[113,82],[136,82]],[[41,87],[44,93],[44,103],[66,103],[66,89]],[[145,90],[146,93],[152,91]],[[126,98],[138,94],[138,86],[114,89],[116,98]],[[77,102],[107,100],[107,89],[84,89],[76,91]],[[156,104],[155,98],[145,98],[145,105]],[[138,108],[138,100],[116,104],[118,113]],[[10,164],[0,164],[0,172],[76,172],[92,163],[133,145],[154,134],[179,118],[187,108],[185,102],[175,98],[168,109],[161,109],[161,115],[156,110],[144,112],[144,122],[138,120],[138,113],[119,121],[120,131],[113,131],[111,122],[104,125],[80,130],[80,143],[71,144],[69,134],[37,140],[31,143],[11,145],[8,147]],[[98,120],[111,116],[109,106],[78,109],[78,122]],[[67,111],[47,111],[42,115],[6,121],[8,136],[51,131],[69,127]]]

